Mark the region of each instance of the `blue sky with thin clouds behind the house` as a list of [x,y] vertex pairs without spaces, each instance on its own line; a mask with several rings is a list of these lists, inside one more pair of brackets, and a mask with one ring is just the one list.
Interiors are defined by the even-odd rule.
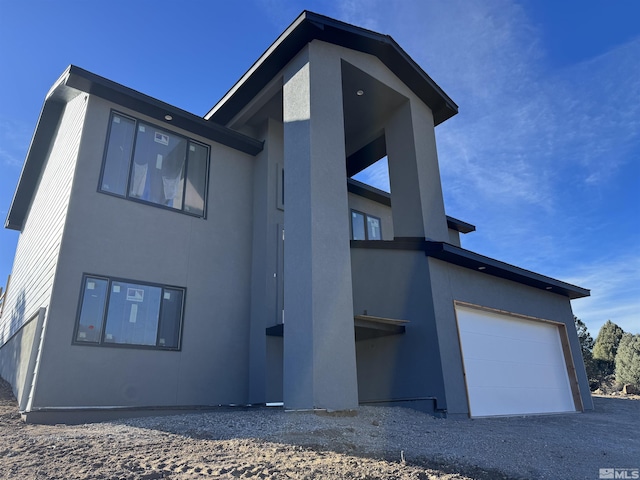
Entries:
[[460,106],[436,138],[465,248],[591,289],[594,337],[640,333],[637,0],[0,0],[0,217],[68,64],[204,115],[304,9],[390,34]]

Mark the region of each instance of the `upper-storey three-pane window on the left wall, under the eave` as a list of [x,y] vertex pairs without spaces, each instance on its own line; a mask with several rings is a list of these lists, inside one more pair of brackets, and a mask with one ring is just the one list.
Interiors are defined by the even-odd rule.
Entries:
[[206,145],[111,113],[100,191],[204,216]]

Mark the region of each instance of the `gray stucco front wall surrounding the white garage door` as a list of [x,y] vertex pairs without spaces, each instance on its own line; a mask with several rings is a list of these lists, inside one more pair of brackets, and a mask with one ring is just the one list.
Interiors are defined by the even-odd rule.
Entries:
[[429,258],[429,276],[449,414],[467,415],[467,395],[454,301],[564,323],[582,403],[593,409],[568,298]]

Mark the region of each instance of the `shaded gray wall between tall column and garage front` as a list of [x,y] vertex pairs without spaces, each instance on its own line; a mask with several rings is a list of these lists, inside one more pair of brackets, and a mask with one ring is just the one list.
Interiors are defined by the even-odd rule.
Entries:
[[409,321],[405,334],[356,343],[359,401],[447,408],[424,252],[352,248],[351,269],[355,315]]

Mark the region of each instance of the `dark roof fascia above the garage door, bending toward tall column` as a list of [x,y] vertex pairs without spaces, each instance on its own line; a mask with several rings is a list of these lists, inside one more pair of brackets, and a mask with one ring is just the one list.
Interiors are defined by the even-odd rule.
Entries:
[[512,282],[538,288],[574,300],[588,297],[588,289],[571,285],[539,273],[525,270],[494,258],[485,257],[475,252],[465,250],[450,243],[434,242],[421,238],[399,239],[391,241],[380,240],[351,240],[352,248],[376,248],[388,250],[418,250],[424,251],[428,257],[436,258],[460,267],[476,270],[479,273],[504,278]]

